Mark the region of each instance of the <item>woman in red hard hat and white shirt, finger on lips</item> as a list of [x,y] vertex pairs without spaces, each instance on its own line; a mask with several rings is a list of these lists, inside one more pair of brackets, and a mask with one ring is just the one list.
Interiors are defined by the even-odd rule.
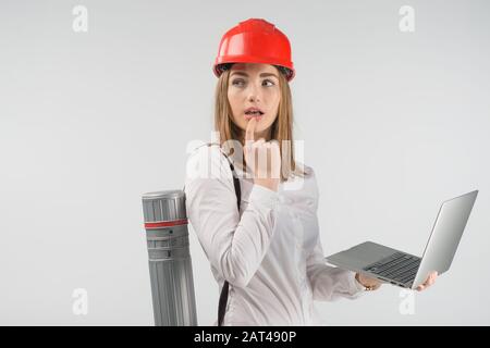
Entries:
[[242,22],[223,36],[213,70],[220,138],[189,157],[185,194],[220,293],[228,290],[222,324],[319,325],[314,300],[356,298],[381,284],[324,264],[315,172],[293,151],[290,42],[264,20]]

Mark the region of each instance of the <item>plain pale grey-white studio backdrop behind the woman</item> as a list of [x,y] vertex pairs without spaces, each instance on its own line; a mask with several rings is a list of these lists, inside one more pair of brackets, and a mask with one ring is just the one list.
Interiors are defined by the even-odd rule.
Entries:
[[[88,32],[72,28],[75,5]],[[402,33],[402,5],[415,32]],[[449,273],[318,302],[329,325],[490,324],[487,1],[0,1],[0,324],[152,325],[140,196],[182,188],[209,140],[223,33],[290,38],[295,139],[317,174],[326,253],[373,240],[421,254],[440,203],[480,194]],[[198,323],[218,285],[194,231]],[[73,313],[84,288],[88,313]]]

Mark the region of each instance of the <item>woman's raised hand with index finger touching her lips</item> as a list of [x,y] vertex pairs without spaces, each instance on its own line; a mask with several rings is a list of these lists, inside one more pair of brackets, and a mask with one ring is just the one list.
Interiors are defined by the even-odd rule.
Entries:
[[[255,140],[257,120],[250,119],[245,133],[244,154],[254,184],[277,191],[281,174],[281,151],[277,140]],[[248,174],[248,173],[247,173]]]

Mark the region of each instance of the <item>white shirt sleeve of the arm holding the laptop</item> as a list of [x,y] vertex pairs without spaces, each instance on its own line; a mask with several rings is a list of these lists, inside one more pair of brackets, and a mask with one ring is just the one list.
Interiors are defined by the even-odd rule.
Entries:
[[318,228],[318,186],[314,170],[311,167],[308,169],[313,175],[314,196],[316,197],[313,215],[316,219],[314,226],[317,229],[315,232],[317,241],[311,253],[306,259],[306,273],[311,285],[314,300],[334,301],[342,297],[355,299],[365,290],[365,287],[356,281],[355,272],[327,265],[324,260]]

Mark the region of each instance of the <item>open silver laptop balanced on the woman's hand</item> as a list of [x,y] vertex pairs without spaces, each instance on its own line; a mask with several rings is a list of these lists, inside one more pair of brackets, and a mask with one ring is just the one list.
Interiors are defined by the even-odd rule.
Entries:
[[474,190],[441,204],[421,258],[366,241],[326,260],[383,283],[415,289],[431,271],[442,274],[449,270],[477,195]]

